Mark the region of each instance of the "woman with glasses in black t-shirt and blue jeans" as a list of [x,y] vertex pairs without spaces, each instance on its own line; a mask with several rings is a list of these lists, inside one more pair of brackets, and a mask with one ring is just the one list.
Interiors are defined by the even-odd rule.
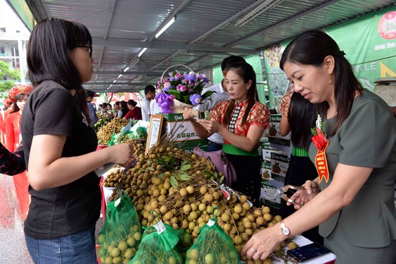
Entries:
[[[34,85],[21,131],[32,197],[25,239],[34,263],[97,263],[94,230],[101,211],[93,170],[134,159],[129,144],[95,151],[97,137],[83,100],[74,95],[92,77],[92,37],[84,25],[45,19],[30,35]],[[86,113],[86,112],[85,112]]]

